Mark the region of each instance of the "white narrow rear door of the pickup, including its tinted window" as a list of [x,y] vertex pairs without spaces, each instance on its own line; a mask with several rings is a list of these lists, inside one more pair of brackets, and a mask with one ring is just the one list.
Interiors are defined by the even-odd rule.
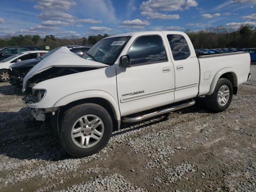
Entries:
[[193,45],[184,33],[163,32],[171,52],[175,70],[175,101],[193,98],[198,94],[199,63]]

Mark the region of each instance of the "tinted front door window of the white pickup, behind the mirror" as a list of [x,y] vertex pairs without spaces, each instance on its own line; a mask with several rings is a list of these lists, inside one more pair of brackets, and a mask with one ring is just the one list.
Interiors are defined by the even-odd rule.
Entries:
[[166,61],[166,52],[162,38],[158,35],[141,36],[130,48],[130,64],[143,64]]

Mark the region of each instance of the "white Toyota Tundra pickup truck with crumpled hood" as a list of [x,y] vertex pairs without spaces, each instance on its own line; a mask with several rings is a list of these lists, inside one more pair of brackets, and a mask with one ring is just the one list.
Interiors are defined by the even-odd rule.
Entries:
[[104,148],[121,122],[192,106],[197,96],[226,110],[249,72],[246,52],[197,58],[183,32],[134,32],[100,40],[83,58],[54,50],[28,72],[22,91],[34,118],[50,114],[62,147],[81,157]]

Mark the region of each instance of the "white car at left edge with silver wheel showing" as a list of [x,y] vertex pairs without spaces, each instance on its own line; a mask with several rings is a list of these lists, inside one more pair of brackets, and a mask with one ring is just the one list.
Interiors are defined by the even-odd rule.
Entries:
[[10,70],[9,67],[11,64],[16,62],[21,62],[23,60],[38,58],[43,56],[48,51],[26,51],[18,54],[14,54],[8,58],[5,58],[0,61],[0,82],[8,82],[10,80]]

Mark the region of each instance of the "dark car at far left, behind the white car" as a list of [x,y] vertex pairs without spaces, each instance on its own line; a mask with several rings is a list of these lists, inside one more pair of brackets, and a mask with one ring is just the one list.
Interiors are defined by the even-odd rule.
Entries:
[[0,60],[8,58],[12,55],[25,52],[41,50],[39,47],[4,47],[0,49]]

